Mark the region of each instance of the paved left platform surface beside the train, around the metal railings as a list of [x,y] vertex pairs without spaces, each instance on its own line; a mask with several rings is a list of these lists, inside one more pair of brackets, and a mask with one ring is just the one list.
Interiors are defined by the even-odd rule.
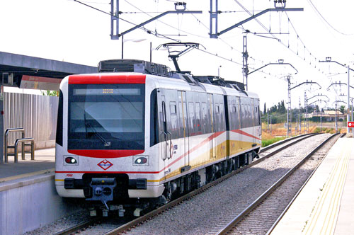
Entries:
[[55,148],[35,150],[35,160],[30,160],[30,154],[25,154],[25,160],[18,156],[18,162],[13,162],[13,156],[8,156],[8,163],[0,164],[0,183],[18,178],[25,178],[46,172],[55,171]]

